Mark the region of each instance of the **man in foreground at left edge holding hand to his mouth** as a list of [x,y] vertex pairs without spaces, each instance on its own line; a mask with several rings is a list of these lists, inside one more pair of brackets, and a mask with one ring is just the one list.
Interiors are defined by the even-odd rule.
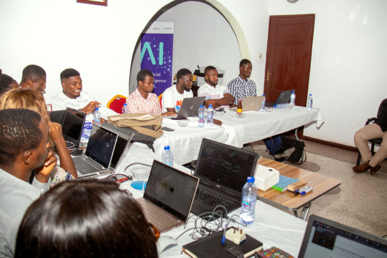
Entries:
[[[47,149],[45,122],[27,109],[0,110],[0,146],[0,257],[14,257],[19,224],[28,206],[49,188],[56,157]],[[31,185],[32,170],[37,173]]]

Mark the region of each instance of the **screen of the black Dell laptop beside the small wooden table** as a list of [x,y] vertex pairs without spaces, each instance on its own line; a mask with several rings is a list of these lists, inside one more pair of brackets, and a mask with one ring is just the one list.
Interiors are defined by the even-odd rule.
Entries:
[[242,187],[247,177],[254,175],[258,157],[251,151],[203,139],[195,175],[201,182],[242,196]]

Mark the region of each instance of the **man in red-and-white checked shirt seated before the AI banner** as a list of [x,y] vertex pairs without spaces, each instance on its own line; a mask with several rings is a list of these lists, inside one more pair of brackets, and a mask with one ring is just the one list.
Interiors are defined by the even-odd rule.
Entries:
[[137,74],[137,89],[126,99],[128,113],[150,113],[152,115],[174,115],[175,112],[161,113],[159,98],[153,91],[153,74],[147,69]]

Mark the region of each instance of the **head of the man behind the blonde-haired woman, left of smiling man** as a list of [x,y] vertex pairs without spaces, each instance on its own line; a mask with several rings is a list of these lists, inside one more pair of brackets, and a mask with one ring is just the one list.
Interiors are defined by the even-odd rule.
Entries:
[[36,64],[29,64],[23,69],[20,87],[29,88],[43,95],[46,88],[46,71]]

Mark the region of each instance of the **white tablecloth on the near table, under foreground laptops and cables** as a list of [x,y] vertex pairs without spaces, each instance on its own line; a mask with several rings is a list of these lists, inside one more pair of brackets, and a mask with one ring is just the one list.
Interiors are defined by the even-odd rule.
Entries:
[[[161,160],[161,156],[153,153],[147,148],[143,148],[139,145],[132,145],[130,151],[124,158],[121,164],[119,164],[118,172],[123,172],[123,169],[131,163],[142,162],[151,165],[153,159]],[[174,163],[174,167],[189,173],[189,169]],[[131,181],[126,181],[121,184],[122,188],[127,188],[133,193],[134,198],[142,197],[141,190],[136,190],[130,186]],[[239,209],[232,212],[230,215],[239,214]],[[192,215],[192,214],[191,214]],[[195,215],[193,215],[195,217]],[[240,224],[231,223],[228,226],[241,227]],[[165,232],[161,235],[171,236],[176,238],[186,229],[194,227],[193,219],[189,219],[186,228],[183,226]],[[301,247],[304,231],[306,228],[306,222],[296,218],[295,216],[278,210],[268,204],[265,204],[259,200],[255,206],[255,222],[252,225],[243,227],[242,229],[250,236],[256,238],[264,244],[264,249],[272,246],[277,246],[284,251],[289,252],[293,256],[297,257],[299,249]],[[182,246],[186,243],[194,241],[189,237],[189,232],[184,233],[177,239],[178,244],[170,249],[161,253],[160,257],[187,257],[184,254],[180,254]]]

